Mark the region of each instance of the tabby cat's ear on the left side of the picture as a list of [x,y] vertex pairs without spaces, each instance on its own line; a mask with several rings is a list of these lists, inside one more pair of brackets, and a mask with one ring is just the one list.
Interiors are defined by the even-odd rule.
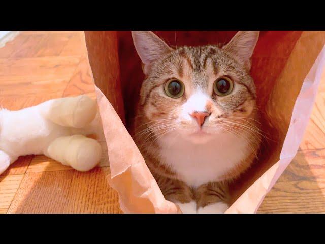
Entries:
[[143,72],[147,74],[152,63],[161,55],[172,50],[163,40],[151,31],[132,31],[134,46],[143,63]]

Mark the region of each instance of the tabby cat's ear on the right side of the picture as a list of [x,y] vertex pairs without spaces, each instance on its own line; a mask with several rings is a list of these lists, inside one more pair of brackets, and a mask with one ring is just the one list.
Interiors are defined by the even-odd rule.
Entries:
[[222,49],[238,57],[250,70],[250,58],[253,54],[259,36],[259,31],[239,31]]

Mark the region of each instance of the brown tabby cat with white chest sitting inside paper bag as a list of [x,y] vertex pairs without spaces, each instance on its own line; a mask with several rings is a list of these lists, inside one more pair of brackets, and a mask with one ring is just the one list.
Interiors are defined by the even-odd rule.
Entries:
[[183,213],[223,213],[229,182],[257,157],[261,132],[251,55],[259,31],[172,48],[132,31],[145,80],[134,139],[161,192]]

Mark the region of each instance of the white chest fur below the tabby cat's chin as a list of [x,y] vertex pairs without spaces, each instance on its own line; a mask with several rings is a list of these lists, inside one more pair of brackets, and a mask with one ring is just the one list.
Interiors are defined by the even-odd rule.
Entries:
[[250,153],[245,137],[223,134],[205,144],[194,144],[181,136],[167,135],[159,140],[161,160],[187,185],[198,187],[220,180]]

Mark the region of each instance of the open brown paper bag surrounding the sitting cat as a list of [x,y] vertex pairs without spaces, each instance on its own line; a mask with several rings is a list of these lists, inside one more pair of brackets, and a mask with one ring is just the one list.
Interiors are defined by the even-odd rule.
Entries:
[[[158,32],[172,45],[226,43],[235,31]],[[180,212],[165,200],[129,135],[144,75],[131,32],[86,31],[111,174],[123,212]],[[256,212],[286,166],[295,157],[320,79],[325,78],[325,32],[263,31],[252,56],[266,139],[259,160],[231,186],[227,213]]]

